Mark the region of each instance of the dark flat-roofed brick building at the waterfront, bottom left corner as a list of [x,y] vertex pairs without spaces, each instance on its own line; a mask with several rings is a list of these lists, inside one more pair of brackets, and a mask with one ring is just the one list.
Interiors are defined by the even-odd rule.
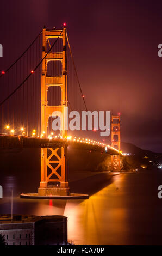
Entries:
[[60,215],[0,215],[6,245],[66,245],[67,217]]

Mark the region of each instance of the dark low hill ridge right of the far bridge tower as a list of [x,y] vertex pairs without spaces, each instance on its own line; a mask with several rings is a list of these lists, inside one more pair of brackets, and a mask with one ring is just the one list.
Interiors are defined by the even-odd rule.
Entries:
[[162,153],[155,153],[149,150],[141,149],[132,143],[121,142],[122,153],[131,153],[139,156],[162,156]]

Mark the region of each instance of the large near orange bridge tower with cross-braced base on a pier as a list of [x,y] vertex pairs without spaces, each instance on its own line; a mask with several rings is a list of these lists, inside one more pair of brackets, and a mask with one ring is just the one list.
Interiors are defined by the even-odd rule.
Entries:
[[[63,51],[49,52],[47,54],[47,40],[50,38],[61,38],[63,40]],[[66,52],[66,27],[61,30],[43,29],[43,47],[42,47],[42,76],[41,76],[41,133],[47,136],[48,120],[54,111],[62,114],[61,136],[67,136],[65,130],[65,107],[67,101],[67,52]],[[62,63],[62,75],[58,77],[47,76],[48,62],[60,61]],[[50,86],[59,86],[61,88],[61,105],[48,105],[48,88]],[[58,114],[59,115],[59,114]],[[49,182],[58,182],[59,187],[54,185],[49,187]],[[68,196],[70,188],[67,181],[67,147],[62,148],[41,148],[41,181],[38,190],[40,196],[55,195]]]

